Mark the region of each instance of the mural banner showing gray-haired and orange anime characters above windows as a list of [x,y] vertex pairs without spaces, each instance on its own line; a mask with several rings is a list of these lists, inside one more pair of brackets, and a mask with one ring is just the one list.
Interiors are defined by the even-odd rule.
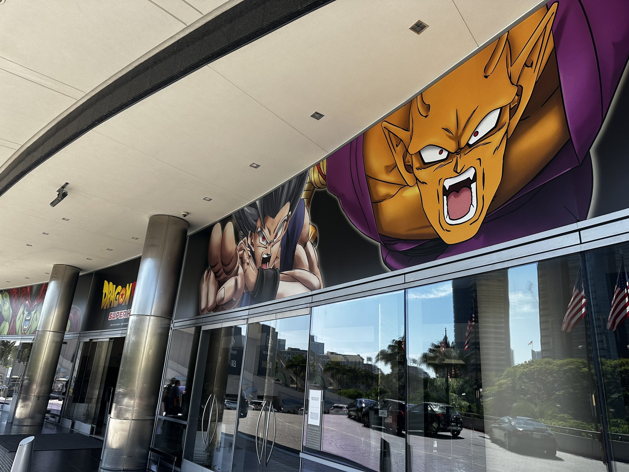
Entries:
[[[328,159],[214,225],[198,274],[200,312],[628,208],[626,145],[607,131],[626,122],[628,56],[625,3],[548,3]],[[343,223],[330,225],[337,206]],[[345,254],[357,266],[374,259],[355,250],[361,239],[377,248],[378,269],[349,274]]]

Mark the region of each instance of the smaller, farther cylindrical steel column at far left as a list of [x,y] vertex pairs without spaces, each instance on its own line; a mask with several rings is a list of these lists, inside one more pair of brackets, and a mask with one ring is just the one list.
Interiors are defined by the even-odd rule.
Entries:
[[14,425],[43,424],[78,279],[77,267],[55,264],[50,271],[42,315],[37,325],[22,386],[13,399],[16,402]]

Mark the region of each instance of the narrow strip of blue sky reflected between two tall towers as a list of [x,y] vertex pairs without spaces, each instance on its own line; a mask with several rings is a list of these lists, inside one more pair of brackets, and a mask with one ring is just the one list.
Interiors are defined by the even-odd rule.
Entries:
[[[509,328],[515,363],[531,360],[540,347],[540,305],[537,264],[509,269]],[[531,346],[528,343],[533,341]]]

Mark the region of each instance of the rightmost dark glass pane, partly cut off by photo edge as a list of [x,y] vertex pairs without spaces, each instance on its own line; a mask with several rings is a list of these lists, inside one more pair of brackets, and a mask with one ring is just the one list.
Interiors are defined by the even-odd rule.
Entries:
[[[607,413],[606,441],[601,449],[614,470],[629,470],[629,324],[623,259],[629,243],[586,252],[589,298],[601,364],[603,408]],[[625,266],[626,269],[626,266]],[[599,432],[602,432],[600,430]]]

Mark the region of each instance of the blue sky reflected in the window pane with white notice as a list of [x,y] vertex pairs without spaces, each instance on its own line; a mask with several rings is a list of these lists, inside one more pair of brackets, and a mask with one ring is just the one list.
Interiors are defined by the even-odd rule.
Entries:
[[[313,308],[312,334],[325,352],[375,358],[404,333],[403,292],[369,296]],[[288,342],[286,344],[288,346]],[[382,371],[390,369],[378,364]]]

